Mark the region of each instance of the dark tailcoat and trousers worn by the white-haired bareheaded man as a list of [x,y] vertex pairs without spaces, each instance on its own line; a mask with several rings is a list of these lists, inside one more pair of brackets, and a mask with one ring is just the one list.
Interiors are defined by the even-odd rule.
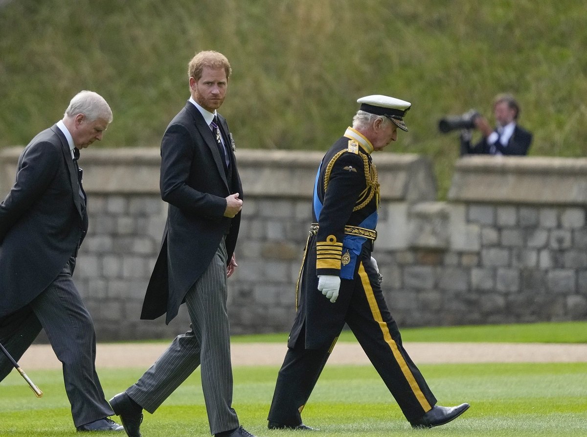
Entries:
[[[77,173],[57,125],[33,138],[19,157],[16,182],[0,203],[0,342],[18,360],[45,328],[80,426],[113,411],[96,375],[92,318],[72,280],[87,231]],[[11,370],[0,354],[0,381]]]

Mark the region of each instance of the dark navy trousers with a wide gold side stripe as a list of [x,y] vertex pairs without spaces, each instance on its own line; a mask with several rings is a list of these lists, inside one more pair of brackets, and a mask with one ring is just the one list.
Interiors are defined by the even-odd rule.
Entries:
[[[318,293],[318,292],[317,292]],[[340,294],[352,293],[345,322],[396,399],[406,418],[420,418],[435,404],[424,377],[402,345],[402,337],[390,314],[370,262],[363,250],[354,280],[342,280]],[[325,317],[328,317],[325,315]],[[306,349],[301,332],[293,348],[288,348],[279,370],[268,420],[287,426],[302,423],[301,411],[332,351]],[[336,338],[333,338],[333,346]]]

